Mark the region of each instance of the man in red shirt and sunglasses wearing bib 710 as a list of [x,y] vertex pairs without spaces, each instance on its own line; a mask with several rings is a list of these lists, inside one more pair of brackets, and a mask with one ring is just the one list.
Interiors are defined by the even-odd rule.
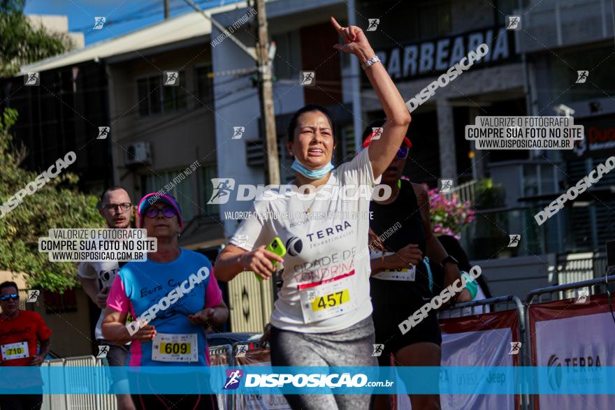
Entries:
[[[15,282],[0,284],[0,366],[40,366],[50,350],[51,330],[36,312],[19,309]],[[40,353],[37,345],[41,344]],[[2,410],[38,410],[43,404],[43,380],[20,381],[19,386],[41,386],[40,394],[0,395]]]

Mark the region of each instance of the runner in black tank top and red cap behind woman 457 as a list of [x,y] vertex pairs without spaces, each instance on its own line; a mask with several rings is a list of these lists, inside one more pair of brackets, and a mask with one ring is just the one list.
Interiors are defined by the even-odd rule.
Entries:
[[[363,147],[382,129],[384,120],[373,122],[363,132]],[[458,279],[459,272],[454,263],[448,263],[447,253],[431,231],[429,221],[429,198],[426,189],[419,184],[400,180],[405,159],[412,144],[405,138],[398,155],[382,174],[382,184],[391,186],[392,198],[384,203],[372,200],[370,211],[372,236],[379,237],[384,251],[372,252],[370,293],[372,296],[376,344],[383,344],[378,357],[381,366],[391,365],[391,353],[396,366],[439,366],[442,335],[434,311],[405,334],[399,324],[408,316],[430,302],[428,267],[432,277],[445,277],[440,282],[449,284]],[[370,247],[373,238],[370,237]],[[442,268],[440,262],[445,263]],[[454,261],[453,261],[454,262]],[[414,265],[414,268],[412,268]],[[436,292],[439,293],[439,290]],[[470,300],[468,291],[463,291],[458,301]],[[437,386],[438,381],[428,381]],[[410,395],[412,409],[440,409],[439,395]],[[377,395],[375,409],[390,409],[389,396]]]

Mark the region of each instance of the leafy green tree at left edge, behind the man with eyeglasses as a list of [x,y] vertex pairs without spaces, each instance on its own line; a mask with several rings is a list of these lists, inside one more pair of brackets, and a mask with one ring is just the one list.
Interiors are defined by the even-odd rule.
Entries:
[[[0,205],[38,175],[19,167],[25,151],[13,145],[9,132],[16,121],[16,110],[4,110],[0,118]],[[96,196],[78,192],[79,178],[69,171],[25,196],[0,219],[0,269],[24,272],[33,288],[61,292],[77,284],[76,264],[50,262],[48,254],[38,252],[38,237],[47,237],[50,228],[103,227]]]

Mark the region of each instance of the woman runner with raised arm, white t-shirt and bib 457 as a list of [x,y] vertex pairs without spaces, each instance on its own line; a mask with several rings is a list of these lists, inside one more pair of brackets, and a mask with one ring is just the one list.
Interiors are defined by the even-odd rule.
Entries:
[[[312,198],[315,189],[340,192],[351,186],[367,188],[369,195],[305,200],[303,193],[294,191],[275,200],[256,200],[256,215],[290,212],[302,218],[243,221],[215,263],[217,279],[230,281],[243,271],[269,279],[275,272],[272,261],[284,262],[283,284],[271,314],[274,366],[377,365],[371,356],[370,265],[357,263],[368,255],[369,219],[337,215],[316,219],[310,213],[368,212],[373,187],[398,151],[410,113],[363,31],[340,27],[333,17],[331,24],[346,43],[333,47],[359,59],[389,122],[382,138],[369,149],[333,169],[331,117],[317,105],[301,108],[292,117],[288,133],[287,149],[295,157],[292,184],[311,185]],[[265,249],[275,237],[287,245],[284,259]],[[293,409],[360,410],[368,409],[370,395],[300,394],[287,395],[287,400]]]

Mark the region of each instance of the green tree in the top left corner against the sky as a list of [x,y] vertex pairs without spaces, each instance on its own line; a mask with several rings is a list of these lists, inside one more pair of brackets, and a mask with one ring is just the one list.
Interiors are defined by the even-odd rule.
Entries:
[[74,47],[66,34],[34,27],[23,13],[24,5],[24,0],[0,0],[0,77]]

